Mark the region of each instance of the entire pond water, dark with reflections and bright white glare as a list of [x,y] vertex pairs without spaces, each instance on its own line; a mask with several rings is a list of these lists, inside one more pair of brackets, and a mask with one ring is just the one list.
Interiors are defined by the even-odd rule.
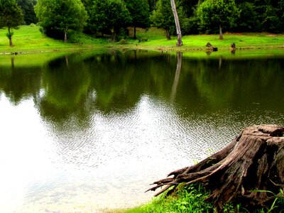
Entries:
[[283,125],[284,55],[236,55],[1,56],[0,212],[142,204],[245,126]]

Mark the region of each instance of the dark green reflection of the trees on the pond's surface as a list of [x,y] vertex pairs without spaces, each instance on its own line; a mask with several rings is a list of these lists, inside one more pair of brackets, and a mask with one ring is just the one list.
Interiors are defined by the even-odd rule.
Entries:
[[43,119],[59,126],[89,126],[96,113],[129,113],[143,96],[175,103],[188,114],[284,105],[282,58],[233,59],[111,50],[19,67],[15,57],[0,67],[0,92],[15,105],[33,98]]

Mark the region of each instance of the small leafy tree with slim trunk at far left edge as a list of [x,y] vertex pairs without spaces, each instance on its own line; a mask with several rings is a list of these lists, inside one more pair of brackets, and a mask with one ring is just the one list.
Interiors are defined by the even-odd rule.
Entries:
[[18,26],[23,22],[23,13],[15,0],[0,0],[0,22],[2,27],[8,28],[6,35],[12,47],[12,30],[18,29]]

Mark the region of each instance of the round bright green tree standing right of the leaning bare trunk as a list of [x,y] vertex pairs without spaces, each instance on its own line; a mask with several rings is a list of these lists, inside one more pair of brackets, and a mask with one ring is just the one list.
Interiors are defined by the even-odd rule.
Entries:
[[223,39],[222,27],[233,26],[239,17],[239,9],[234,0],[206,0],[197,9],[202,28],[219,26],[219,39]]

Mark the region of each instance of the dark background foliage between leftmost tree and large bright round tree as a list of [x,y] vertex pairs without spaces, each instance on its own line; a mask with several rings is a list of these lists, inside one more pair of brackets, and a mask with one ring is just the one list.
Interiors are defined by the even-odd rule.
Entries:
[[18,3],[18,6],[21,7],[21,10],[23,11],[23,23],[24,24],[31,24],[31,23],[37,23],[38,19],[35,16],[35,11],[33,7],[36,4],[36,0],[16,0]]

